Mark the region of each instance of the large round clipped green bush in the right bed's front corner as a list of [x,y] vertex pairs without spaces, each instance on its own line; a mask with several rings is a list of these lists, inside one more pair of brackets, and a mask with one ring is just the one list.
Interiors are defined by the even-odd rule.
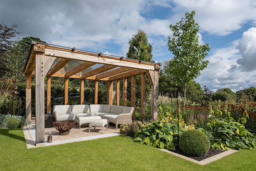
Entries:
[[180,137],[180,149],[190,156],[203,156],[210,149],[210,141],[202,131],[191,129]]

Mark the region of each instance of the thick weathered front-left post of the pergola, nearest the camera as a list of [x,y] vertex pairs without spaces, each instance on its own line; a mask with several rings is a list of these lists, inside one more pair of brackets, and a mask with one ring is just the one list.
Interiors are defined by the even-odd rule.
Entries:
[[35,54],[35,142],[44,143],[44,55]]

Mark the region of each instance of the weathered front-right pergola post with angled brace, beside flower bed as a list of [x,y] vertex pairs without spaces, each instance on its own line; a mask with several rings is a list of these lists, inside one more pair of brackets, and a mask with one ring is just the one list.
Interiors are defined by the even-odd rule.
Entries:
[[151,117],[158,117],[158,89],[159,89],[159,70],[148,70],[151,82]]

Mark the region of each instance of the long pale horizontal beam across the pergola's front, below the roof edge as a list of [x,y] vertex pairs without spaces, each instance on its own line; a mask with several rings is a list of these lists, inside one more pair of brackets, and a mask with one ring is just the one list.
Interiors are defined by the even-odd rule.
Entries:
[[108,57],[108,56],[97,56],[89,53],[84,52],[71,52],[70,50],[65,49],[56,49],[53,47],[47,46],[45,48],[45,55],[47,56],[55,56],[58,58],[67,58],[71,60],[81,60],[81,61],[90,61],[90,62],[96,62],[99,64],[109,64],[109,65],[115,65],[115,66],[125,66],[130,68],[140,68],[145,70],[154,70],[155,64],[152,63],[146,63],[146,62],[138,62],[136,60],[130,60],[130,59],[123,59],[120,60],[119,58],[114,57]]

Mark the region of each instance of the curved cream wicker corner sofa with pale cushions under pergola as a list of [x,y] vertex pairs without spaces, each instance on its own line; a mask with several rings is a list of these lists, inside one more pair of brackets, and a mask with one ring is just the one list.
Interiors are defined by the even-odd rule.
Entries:
[[54,105],[55,121],[75,121],[75,116],[97,115],[107,119],[107,123],[114,123],[116,129],[120,124],[132,123],[134,107],[116,105]]

